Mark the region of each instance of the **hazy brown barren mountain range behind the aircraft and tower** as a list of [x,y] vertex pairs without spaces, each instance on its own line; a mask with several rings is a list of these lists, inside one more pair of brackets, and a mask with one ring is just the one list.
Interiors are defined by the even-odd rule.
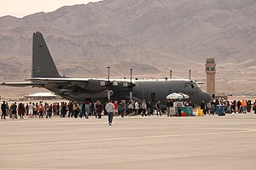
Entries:
[[228,87],[249,79],[253,90],[256,82],[255,0],[103,0],[3,16],[1,81],[31,77],[34,31],[43,33],[68,77],[107,77],[110,66],[111,77],[129,77],[133,68],[136,77],[167,77],[172,70],[187,78],[191,70],[204,81],[206,59],[214,57],[218,81]]

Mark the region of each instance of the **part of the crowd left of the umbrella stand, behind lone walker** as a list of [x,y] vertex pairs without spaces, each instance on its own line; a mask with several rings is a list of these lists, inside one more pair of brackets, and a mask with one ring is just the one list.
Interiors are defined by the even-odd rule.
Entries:
[[[109,103],[109,102],[108,102]],[[86,101],[84,103],[78,102],[54,102],[49,104],[47,102],[39,101],[36,103],[29,102],[27,104],[16,102],[9,105],[9,103],[3,101],[1,105],[2,119],[5,116],[9,116],[12,119],[23,119],[24,116],[29,118],[51,118],[51,116],[60,117],[74,117],[74,118],[86,118],[89,116],[95,116],[98,119],[102,118],[102,115],[108,115],[106,106],[108,103],[103,103],[100,100],[96,102]],[[111,102],[112,103],[112,102]],[[153,106],[150,102],[146,103],[145,100],[141,104],[138,101],[113,101],[113,116],[135,116],[142,114],[142,116],[153,115]],[[158,111],[160,112],[160,102],[157,103]],[[147,112],[147,114],[146,114]],[[161,113],[160,113],[161,115]]]

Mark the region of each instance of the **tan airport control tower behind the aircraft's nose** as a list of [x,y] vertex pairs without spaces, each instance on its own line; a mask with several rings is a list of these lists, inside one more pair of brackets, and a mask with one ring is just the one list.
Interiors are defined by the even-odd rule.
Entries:
[[207,92],[212,94],[212,98],[215,97],[215,74],[216,74],[216,63],[214,58],[207,58],[206,63],[207,72]]

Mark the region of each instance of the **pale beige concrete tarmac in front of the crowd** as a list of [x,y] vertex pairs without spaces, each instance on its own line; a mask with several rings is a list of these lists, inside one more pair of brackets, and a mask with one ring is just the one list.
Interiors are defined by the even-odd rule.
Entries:
[[0,170],[255,170],[256,115],[0,120]]

